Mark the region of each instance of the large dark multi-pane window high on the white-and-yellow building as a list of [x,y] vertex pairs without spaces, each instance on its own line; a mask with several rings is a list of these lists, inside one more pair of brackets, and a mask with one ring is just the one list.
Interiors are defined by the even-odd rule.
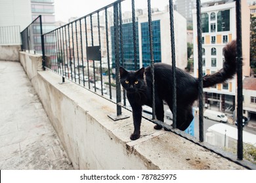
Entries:
[[218,32],[230,31],[230,10],[219,11],[217,14]]

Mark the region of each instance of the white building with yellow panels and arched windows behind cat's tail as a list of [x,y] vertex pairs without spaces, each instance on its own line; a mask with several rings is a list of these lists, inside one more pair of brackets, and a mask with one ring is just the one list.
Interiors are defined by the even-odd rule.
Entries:
[[[236,2],[215,0],[202,4],[203,75],[213,74],[223,67],[223,47],[236,39]],[[249,67],[249,8],[242,1],[243,75],[250,75]],[[196,10],[193,10],[194,76],[198,77],[198,42]],[[205,107],[221,111],[235,110],[236,77],[223,84],[204,88]]]

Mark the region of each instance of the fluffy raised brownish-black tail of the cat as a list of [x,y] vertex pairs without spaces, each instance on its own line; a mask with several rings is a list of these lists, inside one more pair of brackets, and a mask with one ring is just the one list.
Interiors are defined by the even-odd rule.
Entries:
[[203,88],[214,86],[233,78],[236,74],[236,41],[232,41],[223,48],[225,61],[223,69],[213,75],[203,76]]

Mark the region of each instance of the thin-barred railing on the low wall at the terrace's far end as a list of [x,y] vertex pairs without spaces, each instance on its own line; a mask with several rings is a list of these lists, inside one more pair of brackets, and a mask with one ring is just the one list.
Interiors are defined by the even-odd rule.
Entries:
[[21,44],[20,25],[0,27],[0,45]]

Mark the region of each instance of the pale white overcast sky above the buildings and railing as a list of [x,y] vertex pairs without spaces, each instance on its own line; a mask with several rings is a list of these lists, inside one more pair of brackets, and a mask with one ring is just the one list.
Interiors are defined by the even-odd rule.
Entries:
[[[204,1],[209,0],[201,0],[201,2]],[[80,18],[113,2],[115,0],[54,0],[55,20],[68,22],[71,17]],[[152,0],[151,7],[158,7],[163,10],[168,2],[169,0]],[[126,2],[123,2],[122,7],[131,7],[130,4],[131,0],[126,0]],[[135,8],[146,8],[146,5],[146,0],[135,0]],[[131,10],[131,8],[128,9]]]

